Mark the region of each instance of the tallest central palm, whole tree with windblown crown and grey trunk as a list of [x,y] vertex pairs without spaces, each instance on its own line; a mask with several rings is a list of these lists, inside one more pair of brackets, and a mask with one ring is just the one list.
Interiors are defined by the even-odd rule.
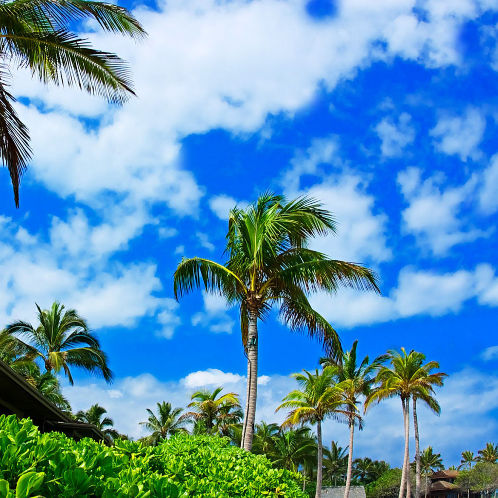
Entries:
[[230,212],[224,265],[200,257],[184,258],[175,271],[176,299],[204,287],[240,309],[248,359],[242,447],[248,451],[256,410],[258,319],[266,318],[276,306],[283,323],[305,331],[323,343],[329,356],[340,358],[336,331],[311,308],[307,294],[319,290],[334,294],[341,287],[380,292],[372,270],[308,248],[314,237],[335,231],[333,217],[315,199],[287,202],[283,196],[266,192],[247,209],[236,207]]

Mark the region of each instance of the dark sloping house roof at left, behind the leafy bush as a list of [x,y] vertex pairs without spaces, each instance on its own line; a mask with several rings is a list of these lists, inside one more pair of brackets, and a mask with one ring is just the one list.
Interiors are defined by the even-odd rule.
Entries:
[[0,360],[0,415],[2,414],[29,417],[41,432],[62,432],[77,441],[89,437],[96,441],[110,442],[95,425],[73,420]]

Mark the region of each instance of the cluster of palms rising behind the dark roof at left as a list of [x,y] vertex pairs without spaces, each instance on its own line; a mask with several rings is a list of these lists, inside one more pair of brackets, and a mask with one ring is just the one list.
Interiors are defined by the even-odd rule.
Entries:
[[38,305],[38,325],[18,320],[0,332],[0,359],[22,375],[56,406],[71,411],[57,375],[64,372],[74,384],[72,369],[83,369],[111,382],[107,354],[86,320],[76,310],[55,301],[50,309]]

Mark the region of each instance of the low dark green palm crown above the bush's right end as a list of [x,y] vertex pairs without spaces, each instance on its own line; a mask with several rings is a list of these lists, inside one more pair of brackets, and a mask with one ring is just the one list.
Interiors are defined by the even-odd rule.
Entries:
[[269,458],[277,467],[297,472],[310,460],[316,460],[317,442],[309,427],[283,427],[274,438],[274,450]]

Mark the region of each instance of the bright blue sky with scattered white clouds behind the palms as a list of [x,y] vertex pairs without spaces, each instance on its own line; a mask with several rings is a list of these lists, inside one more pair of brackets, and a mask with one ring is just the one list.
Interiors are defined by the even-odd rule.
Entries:
[[[311,302],[371,359],[415,349],[449,374],[421,447],[446,465],[498,442],[498,7],[492,0],[145,0],[146,42],[78,26],[129,61],[124,107],[13,71],[33,160],[15,209],[0,169],[0,321],[59,300],[98,334],[116,379],[75,372],[75,410],[100,403],[146,434],[146,408],[223,385],[244,401],[237,310],[176,302],[183,256],[223,262],[229,210],[270,189],[338,222],[313,242],[379,275],[382,296]],[[322,356],[274,316],[259,329],[257,420]],[[402,460],[399,400],[374,406],[355,456]],[[348,444],[328,422],[324,441]],[[412,443],[413,454],[413,443]]]

